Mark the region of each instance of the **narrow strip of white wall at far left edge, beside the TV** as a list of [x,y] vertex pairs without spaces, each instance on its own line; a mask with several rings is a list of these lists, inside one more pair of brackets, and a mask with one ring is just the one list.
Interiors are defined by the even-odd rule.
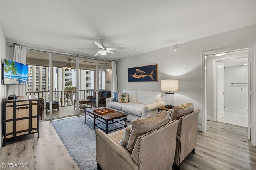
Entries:
[[2,146],[2,119],[3,119],[3,115],[4,115],[4,110],[3,110],[3,102],[4,102],[4,98],[6,97],[5,91],[4,91],[4,85],[2,82],[2,64],[4,63],[4,58],[7,58],[6,55],[6,51],[7,51],[7,43],[6,43],[6,38],[4,36],[4,32],[2,31],[1,28],[1,34],[0,34],[0,59],[1,59],[1,84],[0,84],[0,100],[1,100],[1,105],[0,105],[0,111],[1,111],[1,121],[0,121],[0,134],[1,134],[1,145]]

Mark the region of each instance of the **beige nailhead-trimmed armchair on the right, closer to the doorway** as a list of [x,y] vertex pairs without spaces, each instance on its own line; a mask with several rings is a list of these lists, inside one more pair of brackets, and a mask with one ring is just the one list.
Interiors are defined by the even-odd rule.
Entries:
[[174,167],[179,170],[180,163],[186,156],[190,152],[196,152],[199,109],[194,111],[194,105],[187,103],[186,105],[175,106],[171,112],[170,120],[178,120]]

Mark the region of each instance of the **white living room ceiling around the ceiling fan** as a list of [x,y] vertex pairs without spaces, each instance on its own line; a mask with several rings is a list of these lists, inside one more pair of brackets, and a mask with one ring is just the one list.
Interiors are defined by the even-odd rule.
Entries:
[[[0,1],[8,41],[94,55],[105,38],[153,51],[256,24],[255,1]],[[105,43],[106,47],[118,46]],[[121,59],[142,53],[126,47]]]

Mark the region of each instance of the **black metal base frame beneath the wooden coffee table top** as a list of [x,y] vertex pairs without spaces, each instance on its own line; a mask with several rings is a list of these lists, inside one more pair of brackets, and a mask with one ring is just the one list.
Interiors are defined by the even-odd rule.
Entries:
[[[90,118],[87,118],[86,117],[89,116]],[[91,122],[91,121],[88,121],[88,119],[94,119],[94,122]],[[97,121],[100,121],[100,123],[96,123],[96,120]],[[92,123],[94,125],[94,129],[96,127],[100,128],[102,131],[106,132],[106,134],[108,134],[109,132],[112,132],[114,130],[117,130],[117,129],[120,129],[120,128],[126,128],[127,127],[127,124],[126,124],[126,121],[127,121],[127,115],[123,115],[121,117],[116,117],[116,118],[113,118],[111,120],[106,120],[106,119],[103,119],[102,117],[100,116],[97,116],[96,114],[93,114],[93,113],[90,113],[88,111],[85,110],[85,123],[86,122],[89,122],[89,123]],[[125,121],[125,124],[123,123],[120,123],[121,121]],[[110,122],[110,123],[109,123]],[[106,125],[106,130],[103,129],[102,127],[99,127],[98,125],[99,124],[105,124]],[[118,127],[118,128],[115,128],[115,129],[112,129],[112,130],[108,130],[108,125],[109,124],[113,124],[113,123],[119,123],[120,125],[123,125],[122,127]]]

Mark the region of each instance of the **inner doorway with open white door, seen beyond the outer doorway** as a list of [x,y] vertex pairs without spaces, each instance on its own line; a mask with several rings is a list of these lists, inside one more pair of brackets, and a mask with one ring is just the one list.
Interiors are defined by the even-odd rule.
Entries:
[[216,66],[216,121],[248,127],[248,58],[216,61]]

